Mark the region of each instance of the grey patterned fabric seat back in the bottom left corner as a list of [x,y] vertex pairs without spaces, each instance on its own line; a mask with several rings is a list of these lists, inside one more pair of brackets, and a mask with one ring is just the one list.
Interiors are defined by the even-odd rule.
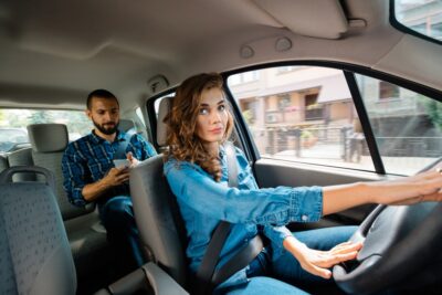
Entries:
[[0,294],[75,294],[75,267],[52,189],[2,183],[0,213]]

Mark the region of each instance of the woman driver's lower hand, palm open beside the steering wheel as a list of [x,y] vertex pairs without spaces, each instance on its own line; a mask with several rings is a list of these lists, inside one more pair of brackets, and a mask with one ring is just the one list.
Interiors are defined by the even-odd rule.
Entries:
[[294,236],[287,236],[284,247],[299,262],[304,271],[324,278],[330,278],[332,272],[327,268],[340,262],[356,259],[361,243],[345,242],[329,251],[319,251],[307,247]]

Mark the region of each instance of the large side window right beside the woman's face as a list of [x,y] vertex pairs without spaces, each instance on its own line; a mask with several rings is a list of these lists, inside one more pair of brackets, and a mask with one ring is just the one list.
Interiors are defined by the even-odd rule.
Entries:
[[271,67],[231,75],[228,86],[262,157],[375,170],[341,71]]

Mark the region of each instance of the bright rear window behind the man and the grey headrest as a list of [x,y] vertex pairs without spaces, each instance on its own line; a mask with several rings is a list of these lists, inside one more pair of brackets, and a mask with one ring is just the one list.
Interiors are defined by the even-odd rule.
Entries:
[[[75,140],[88,134],[93,128],[92,123],[82,110],[59,110],[59,109],[0,109],[0,144],[3,145],[2,151],[11,146],[8,143],[21,140],[29,143],[27,126],[40,123],[61,123],[67,126],[69,139]],[[4,130],[14,130],[17,137],[2,136]],[[12,141],[13,143],[13,141]],[[6,146],[7,145],[7,146]],[[9,148],[11,149],[14,144]]]

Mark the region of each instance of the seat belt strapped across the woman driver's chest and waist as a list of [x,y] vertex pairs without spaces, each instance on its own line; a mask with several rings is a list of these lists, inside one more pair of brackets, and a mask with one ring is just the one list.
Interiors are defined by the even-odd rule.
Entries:
[[[238,187],[238,167],[235,149],[232,143],[227,141],[224,144],[225,155],[228,158],[228,173],[229,173],[229,187]],[[225,243],[225,240],[230,233],[230,223],[221,221],[214,230],[212,238],[210,239],[209,245],[206,250],[206,254],[202,257],[200,267],[196,274],[197,286],[196,294],[203,295],[208,294],[212,289],[212,276],[214,268],[219,261],[220,252]]]

